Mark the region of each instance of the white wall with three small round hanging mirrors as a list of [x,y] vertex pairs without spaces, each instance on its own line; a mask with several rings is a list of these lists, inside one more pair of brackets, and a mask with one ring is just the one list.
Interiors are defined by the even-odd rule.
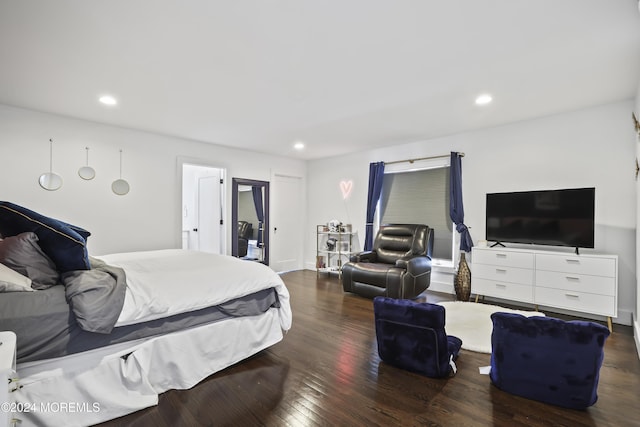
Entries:
[[[64,179],[52,192],[38,185],[40,174],[49,170],[49,138],[53,169]],[[91,181],[77,173],[86,163],[85,147],[96,169]],[[119,177],[119,149],[123,178],[131,185],[126,196],[111,192]],[[304,177],[306,169],[301,160],[0,105],[0,199],[91,231],[92,255],[181,247],[178,158],[227,170],[226,218],[231,218],[231,177],[269,181],[275,172]]]

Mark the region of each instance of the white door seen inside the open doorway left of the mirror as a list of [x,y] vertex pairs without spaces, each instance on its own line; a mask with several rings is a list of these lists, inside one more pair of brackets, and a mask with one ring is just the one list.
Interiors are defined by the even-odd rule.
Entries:
[[198,179],[198,248],[202,252],[221,253],[220,176]]

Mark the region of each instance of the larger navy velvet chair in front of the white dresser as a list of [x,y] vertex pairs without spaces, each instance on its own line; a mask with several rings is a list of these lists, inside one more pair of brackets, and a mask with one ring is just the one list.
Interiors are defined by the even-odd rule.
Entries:
[[572,409],[598,400],[609,329],[595,322],[493,313],[491,382],[507,393]]

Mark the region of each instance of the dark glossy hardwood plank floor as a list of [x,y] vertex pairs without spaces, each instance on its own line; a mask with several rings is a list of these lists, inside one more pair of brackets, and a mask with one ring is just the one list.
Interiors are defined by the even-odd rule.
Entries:
[[[640,361],[630,327],[614,325],[598,402],[575,411],[496,389],[478,372],[488,354],[462,350],[458,373],[448,379],[386,365],[377,354],[371,300],[343,293],[336,276],[296,271],[283,279],[293,327],[282,342],[190,390],[162,394],[157,407],[101,426],[640,425]],[[427,291],[423,299],[451,297]]]

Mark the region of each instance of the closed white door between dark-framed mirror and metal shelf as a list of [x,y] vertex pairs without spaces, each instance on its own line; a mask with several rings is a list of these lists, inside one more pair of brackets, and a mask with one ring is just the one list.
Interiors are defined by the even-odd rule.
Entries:
[[269,265],[278,272],[300,270],[304,236],[302,178],[274,175],[270,198]]

